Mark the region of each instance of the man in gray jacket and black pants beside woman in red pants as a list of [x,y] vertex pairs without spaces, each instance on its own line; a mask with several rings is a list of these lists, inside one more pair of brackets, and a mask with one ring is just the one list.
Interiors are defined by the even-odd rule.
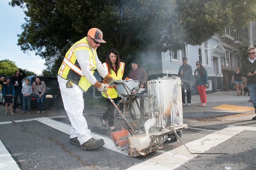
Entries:
[[182,93],[182,105],[186,104],[185,101],[185,88],[187,90],[187,106],[190,106],[191,103],[191,93],[190,93],[190,80],[192,78],[192,67],[187,64],[188,59],[184,57],[182,59],[182,66],[180,66],[178,74],[181,79],[181,93]]

